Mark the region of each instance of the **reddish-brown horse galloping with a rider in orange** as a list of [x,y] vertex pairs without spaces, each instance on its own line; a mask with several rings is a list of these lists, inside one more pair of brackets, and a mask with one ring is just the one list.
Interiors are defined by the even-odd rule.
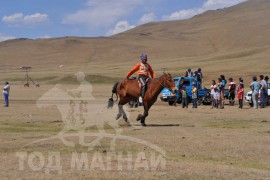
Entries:
[[[175,94],[176,88],[171,74],[163,73],[163,75],[158,78],[148,80],[147,90],[143,99],[144,113],[139,114],[137,117],[137,121],[140,121],[142,126],[146,126],[145,118],[148,116],[148,111],[156,102],[157,97],[163,88],[168,88],[173,94]],[[116,100],[113,99],[114,94],[116,94]],[[138,80],[136,79],[125,79],[114,84],[112,96],[108,101],[108,108],[113,107],[114,102],[118,101],[119,96],[120,99],[118,102],[118,114],[116,116],[116,120],[123,116],[123,119],[129,124],[123,105],[129,101],[138,100],[140,95],[141,88]]]

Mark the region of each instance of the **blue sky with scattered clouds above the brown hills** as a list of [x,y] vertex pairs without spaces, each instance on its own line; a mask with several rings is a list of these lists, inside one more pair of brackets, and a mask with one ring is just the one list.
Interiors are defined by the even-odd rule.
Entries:
[[1,0],[0,41],[111,36],[148,22],[189,19],[245,0]]

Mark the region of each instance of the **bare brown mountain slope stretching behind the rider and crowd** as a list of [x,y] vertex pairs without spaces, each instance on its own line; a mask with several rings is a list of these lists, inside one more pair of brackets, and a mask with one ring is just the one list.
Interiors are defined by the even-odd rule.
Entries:
[[210,77],[269,73],[269,9],[269,0],[249,0],[188,20],[144,24],[111,37],[9,40],[0,43],[0,70],[63,64],[93,73],[99,73],[93,67],[104,67],[105,75],[121,76],[141,53],[147,53],[157,71],[177,73],[200,66]]

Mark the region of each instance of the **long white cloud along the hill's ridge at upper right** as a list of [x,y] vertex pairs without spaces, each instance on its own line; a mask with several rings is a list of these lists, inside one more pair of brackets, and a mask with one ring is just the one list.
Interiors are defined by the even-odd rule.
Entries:
[[207,0],[200,8],[185,9],[185,10],[173,12],[170,15],[163,16],[162,20],[188,19],[208,10],[216,10],[219,8],[233,6],[235,4],[238,4],[244,1],[246,0]]

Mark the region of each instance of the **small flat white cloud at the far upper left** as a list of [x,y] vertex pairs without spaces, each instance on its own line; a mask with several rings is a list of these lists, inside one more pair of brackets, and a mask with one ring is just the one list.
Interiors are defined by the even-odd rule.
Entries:
[[47,14],[31,14],[24,16],[23,13],[15,13],[10,16],[4,16],[2,21],[10,25],[36,25],[48,21]]

